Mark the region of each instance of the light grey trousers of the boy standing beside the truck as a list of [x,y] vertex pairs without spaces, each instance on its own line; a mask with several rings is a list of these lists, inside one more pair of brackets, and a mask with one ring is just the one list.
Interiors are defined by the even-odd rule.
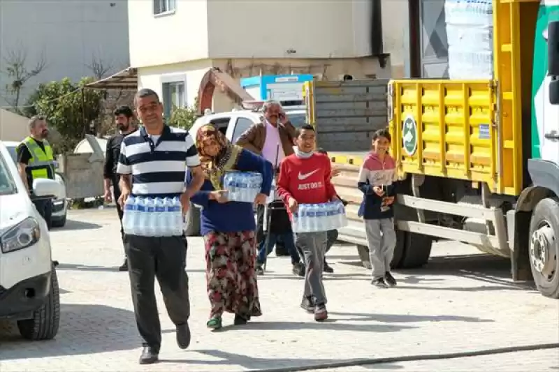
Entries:
[[365,220],[365,232],[369,244],[372,278],[383,278],[386,271],[390,271],[390,262],[396,246],[394,219]]

